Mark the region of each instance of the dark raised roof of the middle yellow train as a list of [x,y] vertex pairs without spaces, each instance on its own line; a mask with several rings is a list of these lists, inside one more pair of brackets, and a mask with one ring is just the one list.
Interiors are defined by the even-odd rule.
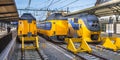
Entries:
[[67,20],[67,17],[64,17],[62,13],[54,13],[48,16],[46,20]]

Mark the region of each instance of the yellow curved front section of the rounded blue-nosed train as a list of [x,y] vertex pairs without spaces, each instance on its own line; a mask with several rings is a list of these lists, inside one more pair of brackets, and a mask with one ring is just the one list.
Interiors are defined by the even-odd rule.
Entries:
[[[87,42],[100,42],[100,34],[101,31],[90,31],[85,23],[82,21],[82,19],[78,20],[78,24],[81,25],[81,29],[77,30],[78,36],[82,36],[83,39],[85,39]],[[98,35],[97,40],[92,40],[91,36],[92,35]]]

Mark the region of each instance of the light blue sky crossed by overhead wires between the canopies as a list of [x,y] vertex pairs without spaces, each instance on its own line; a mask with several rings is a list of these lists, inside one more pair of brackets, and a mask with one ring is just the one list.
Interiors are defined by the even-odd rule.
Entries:
[[[25,9],[28,7],[29,0],[15,0],[17,9]],[[82,10],[94,6],[96,0],[31,0],[29,9],[52,9],[52,10],[67,10],[70,12]],[[19,16],[29,12],[36,17],[37,20],[44,20],[47,11],[20,11]]]

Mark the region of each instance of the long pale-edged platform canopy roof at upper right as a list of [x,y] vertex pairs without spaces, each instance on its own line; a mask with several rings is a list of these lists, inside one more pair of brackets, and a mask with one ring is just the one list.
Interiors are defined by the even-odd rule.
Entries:
[[84,10],[79,10],[76,12],[69,13],[65,16],[72,16],[81,13],[95,14],[98,17],[110,16],[110,15],[120,15],[120,0],[113,0],[106,2],[97,6],[93,6]]

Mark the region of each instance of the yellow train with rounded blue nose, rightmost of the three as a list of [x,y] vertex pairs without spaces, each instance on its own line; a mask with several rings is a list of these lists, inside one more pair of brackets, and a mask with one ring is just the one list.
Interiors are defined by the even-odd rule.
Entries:
[[100,24],[95,15],[80,14],[68,18],[69,37],[85,39],[87,42],[100,42]]

